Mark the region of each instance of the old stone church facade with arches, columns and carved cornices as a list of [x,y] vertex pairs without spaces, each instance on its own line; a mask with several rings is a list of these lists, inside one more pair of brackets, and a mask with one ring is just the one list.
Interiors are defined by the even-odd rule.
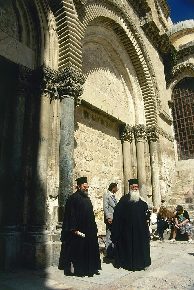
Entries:
[[166,0],[0,3],[1,269],[57,265],[67,198],[130,178],[194,213],[194,20]]

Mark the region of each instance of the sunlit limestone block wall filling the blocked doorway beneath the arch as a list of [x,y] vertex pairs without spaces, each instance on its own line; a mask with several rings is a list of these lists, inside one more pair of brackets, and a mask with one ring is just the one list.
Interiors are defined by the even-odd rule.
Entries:
[[118,184],[117,200],[124,195],[119,128],[117,124],[80,106],[75,110],[74,138],[74,188],[77,177],[88,177],[88,192],[101,233],[106,231],[102,196],[109,184]]

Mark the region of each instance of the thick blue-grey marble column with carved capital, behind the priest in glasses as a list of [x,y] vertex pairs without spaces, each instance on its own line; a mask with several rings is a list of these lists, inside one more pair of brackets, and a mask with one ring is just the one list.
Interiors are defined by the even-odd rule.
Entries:
[[74,167],[74,108],[81,104],[82,88],[86,76],[76,69],[68,66],[58,72],[57,90],[61,100],[61,126],[59,145],[59,205],[58,222],[52,235],[55,243],[52,251],[57,253],[52,257],[52,265],[58,266],[61,250],[61,228],[63,224],[65,204],[73,193],[73,167]]

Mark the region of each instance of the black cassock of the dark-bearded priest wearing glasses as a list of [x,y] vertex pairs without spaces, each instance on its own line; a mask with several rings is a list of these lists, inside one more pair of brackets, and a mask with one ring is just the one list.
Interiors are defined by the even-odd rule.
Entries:
[[[72,230],[85,234],[82,238]],[[59,269],[71,272],[71,263],[76,274],[90,274],[101,270],[93,206],[87,195],[76,191],[68,197],[61,231],[61,254]]]

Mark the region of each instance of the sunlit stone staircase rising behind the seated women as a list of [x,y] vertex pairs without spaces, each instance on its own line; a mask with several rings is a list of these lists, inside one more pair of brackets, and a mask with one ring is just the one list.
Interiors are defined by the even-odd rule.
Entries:
[[[189,167],[189,166],[188,166]],[[189,218],[194,225],[194,168],[176,171],[172,186],[171,198],[168,200],[168,209],[175,211],[178,204],[188,211]]]

